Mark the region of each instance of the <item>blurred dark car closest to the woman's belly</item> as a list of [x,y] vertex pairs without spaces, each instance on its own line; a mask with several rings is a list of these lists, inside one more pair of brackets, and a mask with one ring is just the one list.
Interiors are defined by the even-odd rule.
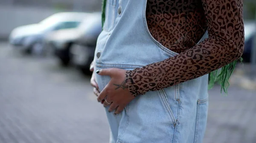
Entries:
[[101,18],[101,14],[90,17],[90,21],[84,25],[83,34],[75,41],[71,49],[73,64],[83,73],[88,73],[90,63],[93,61],[96,42],[102,31]]

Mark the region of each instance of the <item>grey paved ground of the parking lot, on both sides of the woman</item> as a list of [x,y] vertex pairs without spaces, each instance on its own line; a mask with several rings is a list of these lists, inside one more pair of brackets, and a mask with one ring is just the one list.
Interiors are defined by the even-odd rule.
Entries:
[[[204,143],[256,143],[255,101],[255,90],[209,90]],[[89,76],[0,43],[0,143],[108,143],[108,134]]]

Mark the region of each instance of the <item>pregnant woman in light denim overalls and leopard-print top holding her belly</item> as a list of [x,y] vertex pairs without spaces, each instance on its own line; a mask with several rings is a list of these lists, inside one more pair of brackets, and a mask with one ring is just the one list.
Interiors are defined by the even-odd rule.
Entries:
[[102,25],[91,84],[110,143],[202,143],[208,86],[226,91],[243,53],[242,0],[104,0]]

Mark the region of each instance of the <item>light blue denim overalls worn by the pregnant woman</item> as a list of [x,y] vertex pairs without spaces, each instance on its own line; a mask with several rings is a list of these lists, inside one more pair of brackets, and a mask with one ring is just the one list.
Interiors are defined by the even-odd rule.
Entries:
[[[132,70],[177,55],[148,31],[146,3],[147,0],[107,0],[94,72],[113,67]],[[201,41],[206,37],[207,33]],[[96,74],[100,91],[110,79]],[[207,88],[205,75],[138,95],[119,115],[109,113],[107,107],[110,143],[202,143],[207,122]]]

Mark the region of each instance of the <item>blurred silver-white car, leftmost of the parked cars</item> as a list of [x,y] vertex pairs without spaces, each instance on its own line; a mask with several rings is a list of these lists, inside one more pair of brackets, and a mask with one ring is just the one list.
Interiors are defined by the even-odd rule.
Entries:
[[39,23],[15,28],[9,36],[9,43],[26,53],[42,52],[45,47],[44,38],[49,32],[76,28],[86,16],[87,13],[82,12],[53,14]]

